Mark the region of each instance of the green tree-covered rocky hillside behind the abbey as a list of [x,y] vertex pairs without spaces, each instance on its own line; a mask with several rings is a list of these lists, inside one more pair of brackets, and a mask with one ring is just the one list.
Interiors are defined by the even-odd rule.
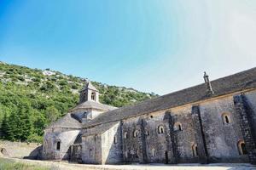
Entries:
[[[133,88],[92,82],[102,104],[121,107],[157,96]],[[44,127],[77,105],[83,79],[59,71],[0,62],[0,136],[12,141],[42,142]]]

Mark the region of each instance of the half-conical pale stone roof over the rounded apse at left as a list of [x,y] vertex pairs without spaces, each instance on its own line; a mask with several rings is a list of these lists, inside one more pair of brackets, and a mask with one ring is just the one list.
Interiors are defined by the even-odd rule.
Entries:
[[67,113],[66,116],[61,117],[58,121],[53,122],[49,125],[49,127],[46,127],[46,129],[49,128],[81,128],[82,124],[78,120],[73,117],[71,113]]

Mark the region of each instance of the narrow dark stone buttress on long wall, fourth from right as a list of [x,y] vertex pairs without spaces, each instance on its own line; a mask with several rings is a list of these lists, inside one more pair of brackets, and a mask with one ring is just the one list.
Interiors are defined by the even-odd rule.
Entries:
[[147,156],[147,143],[146,143],[146,132],[145,132],[145,120],[140,120],[140,131],[141,131],[141,153],[139,156],[140,163],[147,163],[148,156]]

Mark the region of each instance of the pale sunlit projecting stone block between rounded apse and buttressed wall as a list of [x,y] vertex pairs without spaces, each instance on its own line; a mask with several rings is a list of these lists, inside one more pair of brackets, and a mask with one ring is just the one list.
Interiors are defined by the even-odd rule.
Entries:
[[113,164],[123,161],[120,122],[111,122],[83,130],[84,163]]

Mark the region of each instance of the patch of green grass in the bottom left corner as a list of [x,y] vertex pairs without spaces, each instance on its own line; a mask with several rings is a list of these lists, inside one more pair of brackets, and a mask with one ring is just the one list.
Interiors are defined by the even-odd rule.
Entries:
[[23,162],[16,162],[6,158],[0,158],[0,170],[49,170],[49,167],[41,167]]

